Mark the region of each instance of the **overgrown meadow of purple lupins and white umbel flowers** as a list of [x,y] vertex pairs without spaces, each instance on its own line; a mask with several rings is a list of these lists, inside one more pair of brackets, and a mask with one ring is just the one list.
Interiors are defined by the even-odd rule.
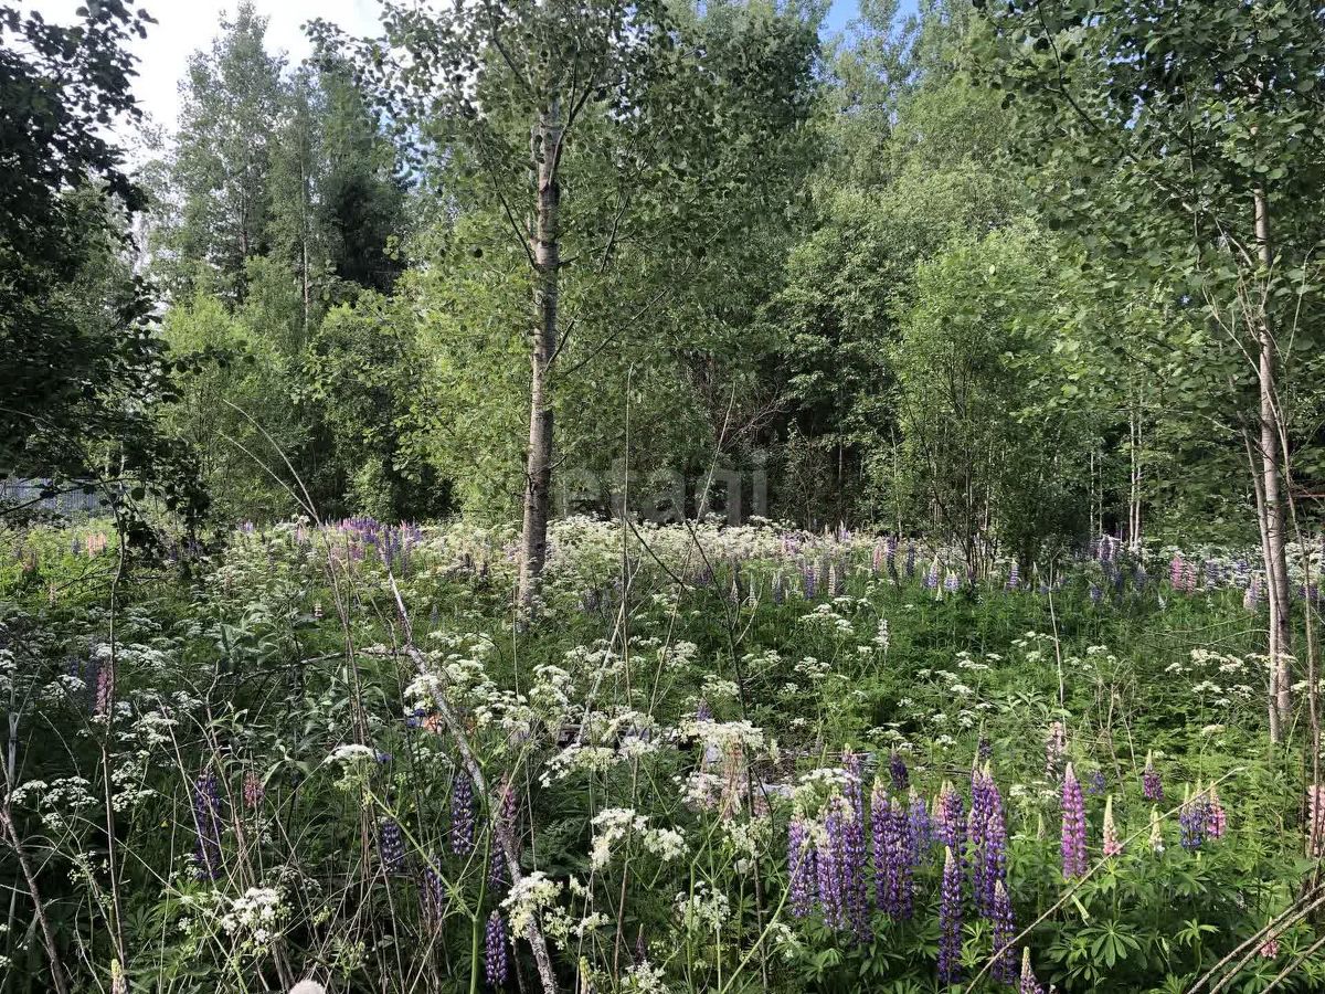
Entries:
[[122,574],[95,527],[4,535],[0,990],[1325,982],[1236,555],[971,586],[920,541],[572,520],[517,619],[511,539]]

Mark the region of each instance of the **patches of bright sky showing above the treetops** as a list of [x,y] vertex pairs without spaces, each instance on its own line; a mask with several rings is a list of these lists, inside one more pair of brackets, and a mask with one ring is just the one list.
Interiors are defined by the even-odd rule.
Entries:
[[[57,24],[76,19],[82,0],[20,0],[20,9],[36,9]],[[179,115],[179,81],[192,52],[211,45],[224,11],[233,12],[238,0],[135,0],[156,19],[147,38],[134,45],[138,81],[134,90],[151,122],[175,130]],[[254,0],[258,13],[270,19],[266,42],[270,50],[284,50],[298,64],[309,54],[309,41],[301,25],[314,17],[339,24],[351,34],[375,34],[378,0]],[[841,30],[856,13],[856,0],[833,0],[824,24],[827,32]]]

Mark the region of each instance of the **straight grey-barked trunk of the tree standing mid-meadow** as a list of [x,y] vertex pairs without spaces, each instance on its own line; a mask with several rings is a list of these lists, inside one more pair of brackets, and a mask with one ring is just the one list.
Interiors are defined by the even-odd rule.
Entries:
[[530,139],[538,163],[538,217],[534,228],[534,315],[530,345],[529,453],[525,463],[525,524],[521,535],[518,604],[529,610],[547,561],[547,520],[553,492],[551,367],[556,357],[556,302],[560,269],[558,159],[560,101],[553,99]]

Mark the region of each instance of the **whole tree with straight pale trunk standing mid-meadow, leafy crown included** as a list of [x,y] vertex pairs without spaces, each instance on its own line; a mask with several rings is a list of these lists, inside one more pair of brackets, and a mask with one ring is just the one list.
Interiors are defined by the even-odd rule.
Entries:
[[[690,38],[690,50],[661,4],[612,0],[457,5],[445,13],[388,4],[383,23],[386,38],[359,46],[360,77],[391,119],[424,139],[425,158],[450,166],[448,175],[476,178],[470,192],[481,191],[527,265],[530,400],[518,591],[527,608],[547,553],[554,368],[567,357],[572,330],[590,350],[606,349],[620,333],[584,345],[578,323],[563,325],[564,270],[574,262],[606,272],[635,239],[652,237],[651,248],[664,252],[672,239],[684,241],[682,232],[698,227],[685,199],[694,174],[729,190],[743,179],[717,172],[721,144],[708,140],[722,86],[739,86],[747,72],[762,81],[770,66],[786,68],[782,60],[795,46],[774,48],[763,62],[741,46],[700,49],[702,37]],[[315,30],[330,50],[333,29]],[[401,52],[408,57],[398,57]],[[792,90],[802,86],[804,61],[784,74]],[[595,188],[594,178],[613,182]],[[563,203],[563,190],[594,195]],[[568,241],[574,256],[563,256]]]

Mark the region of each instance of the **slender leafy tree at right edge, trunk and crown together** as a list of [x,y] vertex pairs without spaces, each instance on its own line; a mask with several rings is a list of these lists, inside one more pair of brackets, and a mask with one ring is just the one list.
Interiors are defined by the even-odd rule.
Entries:
[[1088,248],[1173,278],[1244,357],[1238,379],[1255,403],[1239,433],[1268,582],[1277,741],[1292,684],[1284,378],[1314,343],[1320,311],[1325,12],[1306,0],[1012,0],[987,21],[991,82],[1024,106],[1031,156],[1053,166],[1045,207],[1084,223]]

